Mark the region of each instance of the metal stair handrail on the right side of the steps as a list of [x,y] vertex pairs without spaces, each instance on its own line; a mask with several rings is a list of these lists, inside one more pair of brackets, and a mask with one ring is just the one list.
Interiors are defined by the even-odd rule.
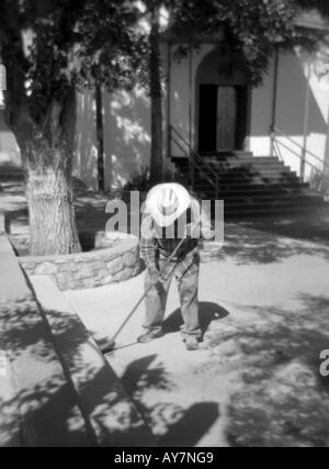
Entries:
[[[297,150],[294,150],[293,148],[291,148],[286,144],[284,144],[282,141],[280,141],[276,137],[277,135],[283,136],[288,142],[293,143],[296,147],[298,147],[302,150],[302,155],[299,155],[299,153],[297,153]],[[288,136],[287,134],[285,134],[283,131],[281,131],[276,126],[272,126],[271,127],[271,141],[272,141],[272,148],[273,148],[274,153],[276,154],[276,156],[281,160],[283,160],[283,157],[281,155],[279,145],[283,146],[292,155],[294,155],[297,158],[299,158],[300,165],[308,165],[310,168],[313,168],[316,171],[316,174],[320,174],[320,176],[329,183],[329,176],[326,175],[326,172],[325,172],[326,167],[329,168],[329,163],[328,161],[324,161],[321,158],[319,158],[313,152],[310,152],[309,149],[307,149],[305,146],[300,145],[298,142],[294,141],[294,138],[292,138],[291,136]],[[306,158],[306,155],[311,156],[317,163],[319,163],[322,166],[322,169],[320,169],[319,167],[315,166],[315,164],[308,161],[308,159]],[[303,177],[303,175],[302,175],[302,177]]]

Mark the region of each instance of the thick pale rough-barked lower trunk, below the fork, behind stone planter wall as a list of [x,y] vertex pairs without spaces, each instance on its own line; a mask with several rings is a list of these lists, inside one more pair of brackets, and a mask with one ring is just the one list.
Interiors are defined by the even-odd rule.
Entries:
[[81,250],[72,191],[73,94],[65,107],[54,101],[42,126],[25,119],[16,127],[26,179],[32,256]]

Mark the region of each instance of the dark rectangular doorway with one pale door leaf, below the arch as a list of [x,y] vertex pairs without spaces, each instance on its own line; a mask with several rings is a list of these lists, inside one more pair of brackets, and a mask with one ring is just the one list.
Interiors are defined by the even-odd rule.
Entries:
[[248,87],[201,85],[198,150],[241,150],[247,133]]

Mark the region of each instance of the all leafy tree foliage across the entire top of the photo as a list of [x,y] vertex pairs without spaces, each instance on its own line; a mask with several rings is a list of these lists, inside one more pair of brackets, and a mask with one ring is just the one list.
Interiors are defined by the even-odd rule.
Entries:
[[[298,30],[302,9],[329,14],[325,0],[2,0],[0,48],[8,68],[13,107],[22,100],[42,120],[50,101],[71,87],[110,90],[149,88],[149,34],[136,27],[151,20],[156,5],[170,10],[170,24],[196,45],[197,34],[225,34],[224,46],[237,57],[247,79],[258,83],[276,48],[311,45],[318,37]],[[180,49],[180,53],[186,51]],[[178,54],[180,55],[180,54]]]

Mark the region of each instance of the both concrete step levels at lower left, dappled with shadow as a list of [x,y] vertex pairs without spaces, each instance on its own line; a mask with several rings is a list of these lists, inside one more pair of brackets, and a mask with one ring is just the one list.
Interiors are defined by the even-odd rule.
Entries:
[[0,265],[0,446],[155,446],[79,317],[50,278],[32,290],[5,235]]

